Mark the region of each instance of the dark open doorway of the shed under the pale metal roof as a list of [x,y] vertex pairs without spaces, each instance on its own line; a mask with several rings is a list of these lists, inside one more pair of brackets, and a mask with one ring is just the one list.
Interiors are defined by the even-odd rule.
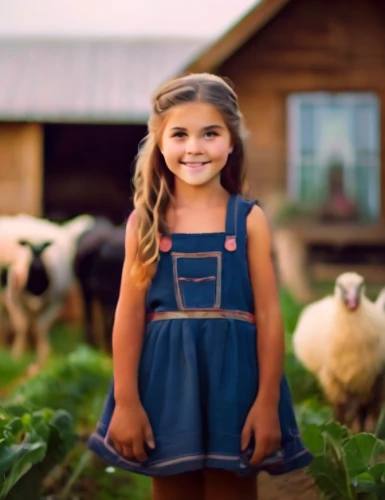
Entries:
[[145,125],[44,126],[43,215],[63,221],[82,213],[115,224],[132,209],[131,179]]

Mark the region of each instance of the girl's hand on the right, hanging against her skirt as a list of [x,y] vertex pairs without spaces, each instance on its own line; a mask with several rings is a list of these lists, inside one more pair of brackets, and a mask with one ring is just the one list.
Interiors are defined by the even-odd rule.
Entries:
[[241,434],[241,449],[247,448],[254,434],[255,449],[249,460],[250,465],[258,465],[262,460],[280,448],[281,427],[278,408],[256,399],[247,415]]

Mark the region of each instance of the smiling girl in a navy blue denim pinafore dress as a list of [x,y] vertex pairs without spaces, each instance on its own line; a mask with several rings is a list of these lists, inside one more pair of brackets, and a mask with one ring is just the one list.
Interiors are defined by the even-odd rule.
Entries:
[[137,159],[114,384],[90,448],[152,476],[155,500],[255,499],[259,471],[311,459],[282,375],[268,225],[240,196],[244,135],[232,88],[190,75],[155,96]]

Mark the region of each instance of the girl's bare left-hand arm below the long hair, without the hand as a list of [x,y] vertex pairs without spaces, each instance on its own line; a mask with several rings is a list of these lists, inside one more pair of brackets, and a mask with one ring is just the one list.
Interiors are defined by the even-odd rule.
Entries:
[[138,289],[131,277],[137,247],[133,212],[126,227],[125,259],[112,335],[115,400],[122,405],[139,402],[138,366],[144,338],[146,291]]

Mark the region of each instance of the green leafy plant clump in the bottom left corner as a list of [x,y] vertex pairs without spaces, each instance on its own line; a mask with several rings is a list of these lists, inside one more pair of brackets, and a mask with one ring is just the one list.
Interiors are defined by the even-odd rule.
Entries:
[[86,435],[95,426],[111,371],[110,358],[80,346],[2,401],[0,500],[40,498],[43,478],[74,446],[74,423]]

